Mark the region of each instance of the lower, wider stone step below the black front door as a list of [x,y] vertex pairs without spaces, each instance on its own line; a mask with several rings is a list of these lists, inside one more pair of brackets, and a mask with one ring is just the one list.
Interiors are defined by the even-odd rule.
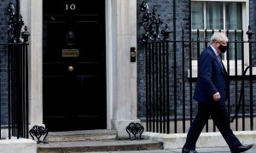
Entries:
[[120,150],[163,150],[163,144],[152,139],[143,140],[87,140],[38,144],[38,153],[90,152]]

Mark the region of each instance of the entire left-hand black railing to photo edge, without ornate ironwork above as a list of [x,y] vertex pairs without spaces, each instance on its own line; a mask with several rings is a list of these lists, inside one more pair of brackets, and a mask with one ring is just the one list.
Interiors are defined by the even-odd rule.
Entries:
[[[28,65],[26,43],[0,44],[1,53],[1,113],[0,131],[4,138],[28,138]],[[3,135],[5,131],[5,134]],[[7,132],[8,131],[8,132]],[[1,134],[0,133],[0,134]]]

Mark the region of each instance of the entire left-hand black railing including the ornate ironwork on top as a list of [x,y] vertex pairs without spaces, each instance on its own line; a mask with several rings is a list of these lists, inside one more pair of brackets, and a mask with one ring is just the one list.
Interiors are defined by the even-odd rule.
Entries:
[[16,9],[14,3],[9,3],[8,12],[8,43],[0,43],[0,139],[28,138],[27,41],[30,34],[26,26],[21,32],[24,22],[19,0]]

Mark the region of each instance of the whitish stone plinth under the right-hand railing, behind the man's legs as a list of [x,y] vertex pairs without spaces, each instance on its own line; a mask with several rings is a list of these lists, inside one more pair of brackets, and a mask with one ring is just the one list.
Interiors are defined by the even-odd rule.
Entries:
[[[241,144],[256,144],[256,131],[234,131]],[[164,144],[164,150],[180,149],[187,138],[187,133],[143,133],[144,139],[153,139]],[[196,147],[224,147],[228,146],[221,133],[201,133]]]

